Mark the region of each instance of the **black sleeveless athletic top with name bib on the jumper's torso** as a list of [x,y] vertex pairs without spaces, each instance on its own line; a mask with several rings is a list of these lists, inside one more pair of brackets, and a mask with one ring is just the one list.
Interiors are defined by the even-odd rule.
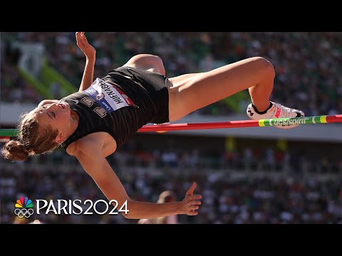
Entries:
[[64,149],[76,140],[93,132],[108,132],[122,146],[143,125],[152,122],[155,110],[148,93],[134,81],[120,76],[115,79],[97,78],[82,92],[64,97],[71,110],[79,117],[76,131],[71,134]]

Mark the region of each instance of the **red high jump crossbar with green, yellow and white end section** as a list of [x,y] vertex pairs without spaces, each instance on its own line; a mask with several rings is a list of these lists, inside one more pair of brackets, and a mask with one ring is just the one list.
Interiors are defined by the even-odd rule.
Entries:
[[[222,128],[242,128],[242,127],[270,127],[291,124],[328,124],[342,122],[342,114],[321,115],[313,117],[291,117],[274,118],[260,120],[239,120],[226,122],[207,123],[179,123],[179,124],[157,124],[144,125],[138,132],[158,132],[158,131],[179,131],[190,129],[222,129]],[[0,129],[0,137],[16,137],[16,129]]]

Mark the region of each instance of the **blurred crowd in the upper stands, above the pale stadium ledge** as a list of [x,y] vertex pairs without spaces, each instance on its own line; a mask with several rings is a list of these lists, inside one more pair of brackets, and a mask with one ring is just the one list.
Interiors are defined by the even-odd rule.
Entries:
[[[276,70],[275,102],[295,106],[307,116],[342,113],[338,100],[342,96],[341,32],[89,32],[88,38],[97,50],[95,77],[138,53],[160,55],[170,77],[260,55]],[[1,33],[1,41],[1,101],[38,103],[42,99],[16,72],[26,61],[32,73],[38,73],[37,56],[46,56],[64,78],[76,87],[80,84],[84,55],[76,46],[75,33]],[[48,86],[56,97],[64,96],[58,84]],[[240,104],[239,112],[244,112],[247,102]],[[217,102],[197,113],[232,112]]]

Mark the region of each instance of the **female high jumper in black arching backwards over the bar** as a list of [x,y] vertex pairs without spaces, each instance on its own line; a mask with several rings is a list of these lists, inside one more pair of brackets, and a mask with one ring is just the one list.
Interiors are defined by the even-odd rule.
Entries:
[[123,214],[125,218],[197,215],[201,204],[202,196],[194,194],[195,182],[182,201],[148,203],[130,199],[105,158],[145,124],[175,122],[246,89],[252,100],[247,115],[252,119],[304,116],[300,110],[269,100],[275,72],[265,58],[247,58],[209,72],[167,78],[158,56],[139,54],[103,78],[93,80],[96,50],[84,32],[76,32],[76,41],[86,55],[78,92],[61,100],[43,100],[34,110],[23,114],[17,140],[7,142],[2,155],[23,161],[63,146],[78,159],[108,201],[118,201],[118,206],[127,203],[129,212]]

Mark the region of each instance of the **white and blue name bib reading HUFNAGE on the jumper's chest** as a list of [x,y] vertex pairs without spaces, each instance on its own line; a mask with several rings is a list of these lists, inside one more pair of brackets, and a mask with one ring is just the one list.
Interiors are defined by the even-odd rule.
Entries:
[[93,84],[84,92],[107,112],[134,105],[134,102],[130,100],[130,97],[125,92],[100,78],[96,78]]

